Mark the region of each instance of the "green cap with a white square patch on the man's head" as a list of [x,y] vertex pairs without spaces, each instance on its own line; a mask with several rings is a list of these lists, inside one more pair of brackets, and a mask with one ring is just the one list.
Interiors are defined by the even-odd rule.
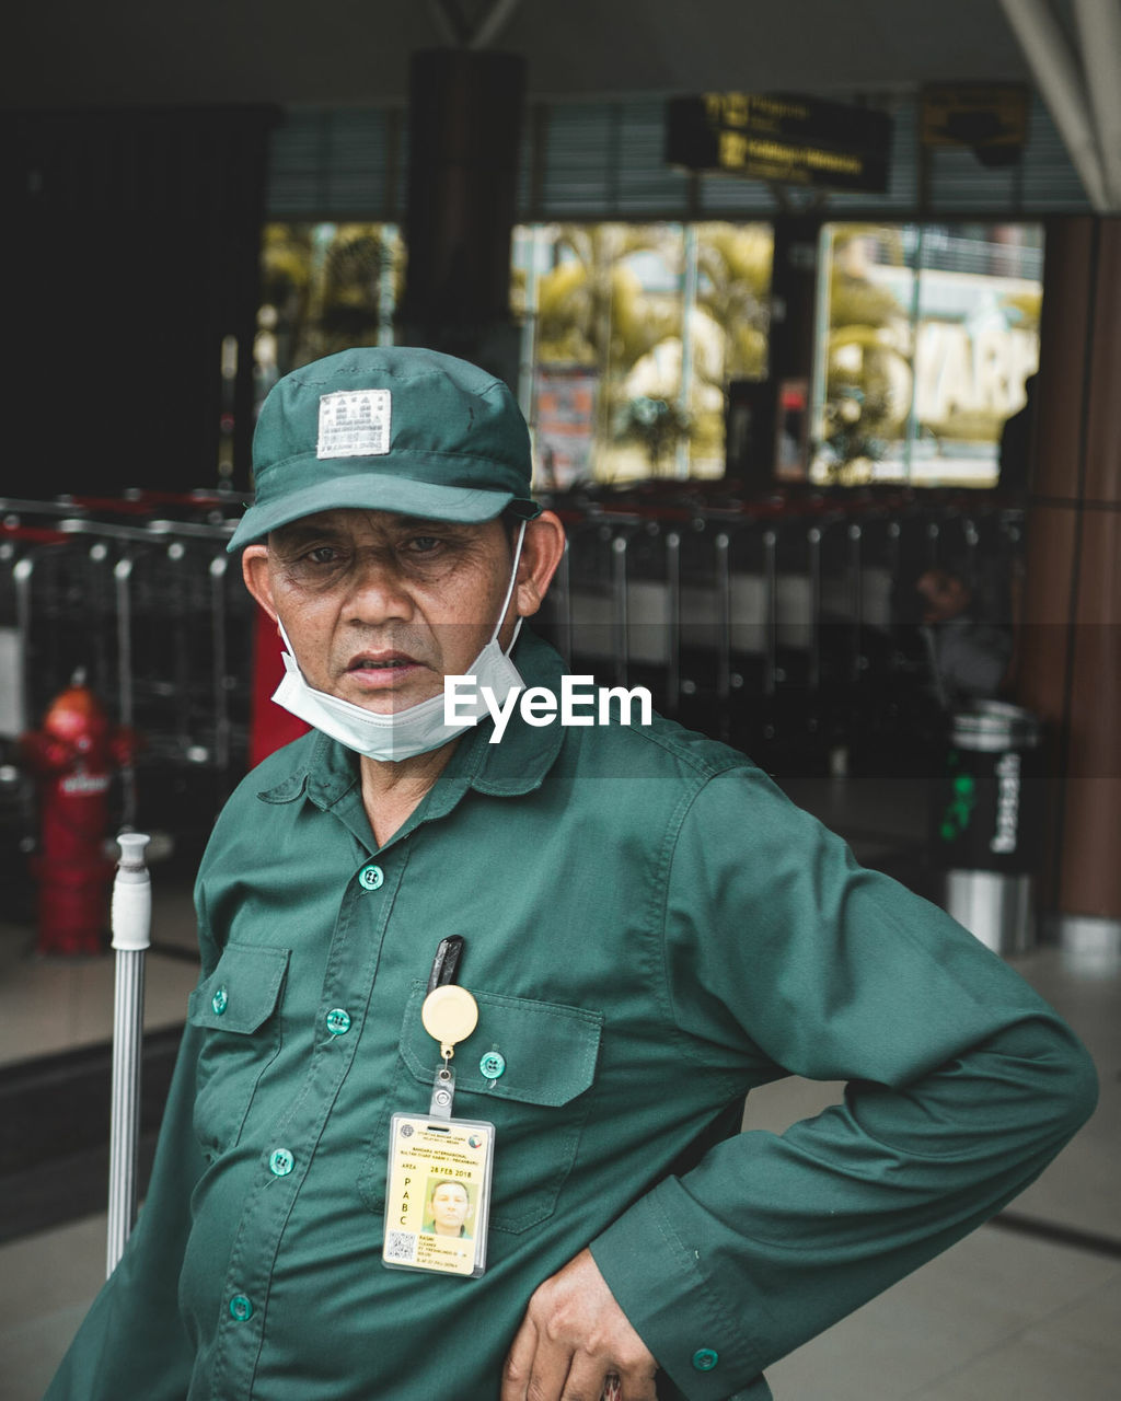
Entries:
[[256,499],[228,548],[317,511],[532,520],[530,432],[502,380],[465,360],[367,346],[277,381],[254,434]]

